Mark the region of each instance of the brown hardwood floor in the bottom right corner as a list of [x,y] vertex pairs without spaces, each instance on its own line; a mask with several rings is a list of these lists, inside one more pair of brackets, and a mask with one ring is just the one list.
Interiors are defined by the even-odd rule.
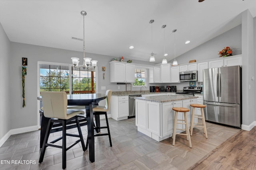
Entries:
[[251,131],[241,130],[201,161],[190,169],[256,170],[256,127]]

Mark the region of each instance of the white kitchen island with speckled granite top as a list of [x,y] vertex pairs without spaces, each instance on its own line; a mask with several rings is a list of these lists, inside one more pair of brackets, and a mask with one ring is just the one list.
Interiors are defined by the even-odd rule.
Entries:
[[[136,126],[138,131],[156,141],[171,137],[174,120],[172,107],[190,109],[190,104],[197,103],[196,98],[198,97],[169,94],[136,98]],[[190,112],[187,115],[190,122]],[[184,119],[183,115],[178,114],[178,119]],[[194,121],[197,123],[197,119]],[[185,127],[178,124],[177,129],[185,129]],[[177,133],[182,131],[178,130]]]

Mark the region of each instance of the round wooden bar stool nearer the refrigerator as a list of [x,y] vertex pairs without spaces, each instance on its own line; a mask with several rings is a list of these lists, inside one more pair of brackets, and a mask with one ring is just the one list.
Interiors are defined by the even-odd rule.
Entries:
[[[206,107],[203,104],[190,104],[192,108],[192,116],[191,116],[191,124],[190,124],[190,135],[192,136],[193,133],[193,127],[202,127],[205,133],[205,137],[208,138],[207,136],[207,131],[206,131],[206,124],[205,124],[205,118],[204,118],[204,107]],[[200,108],[201,109],[201,115],[195,115],[195,109]],[[194,125],[194,118],[200,118],[202,119],[202,123],[197,123],[201,124],[202,126]]]

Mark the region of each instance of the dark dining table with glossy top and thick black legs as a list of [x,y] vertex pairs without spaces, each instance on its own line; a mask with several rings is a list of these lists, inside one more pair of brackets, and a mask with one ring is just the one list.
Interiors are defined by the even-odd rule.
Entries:
[[[106,98],[106,94],[67,94],[68,106],[84,106],[86,119],[87,119],[87,130],[88,130],[88,144],[89,144],[89,159],[91,162],[95,161],[94,155],[94,121],[92,106],[98,104],[101,100]],[[42,96],[37,97],[38,100],[42,101]],[[44,104],[43,104],[44,105]],[[41,131],[45,129],[48,123],[48,119],[42,118],[41,120]],[[45,132],[43,132],[45,134]],[[41,135],[40,141],[44,134]]]

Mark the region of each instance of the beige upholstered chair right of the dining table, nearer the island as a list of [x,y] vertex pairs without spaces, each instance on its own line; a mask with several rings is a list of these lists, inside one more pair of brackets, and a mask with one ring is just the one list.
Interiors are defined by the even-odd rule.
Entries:
[[[106,124],[107,124],[107,126],[94,127],[94,129],[108,129],[108,133],[94,134],[94,137],[95,137],[95,136],[104,136],[104,135],[108,135],[110,147],[112,147],[112,142],[111,142],[111,136],[110,136],[109,125],[108,125],[107,111],[110,109],[111,95],[112,95],[112,90],[107,90],[107,91],[106,91],[106,105],[105,105],[105,106],[93,106],[93,107],[92,107],[93,115],[105,115]],[[88,138],[87,138],[87,141],[86,141],[86,149],[87,149],[87,148],[88,148]]]

